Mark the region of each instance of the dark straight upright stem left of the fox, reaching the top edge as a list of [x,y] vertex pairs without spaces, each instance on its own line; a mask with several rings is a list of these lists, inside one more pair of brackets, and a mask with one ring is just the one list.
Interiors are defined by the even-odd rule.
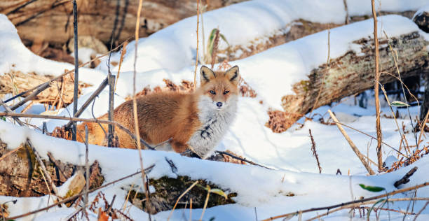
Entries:
[[[74,29],[74,92],[73,92],[73,115],[77,112],[77,99],[79,90],[79,57],[78,57],[78,34],[77,34],[77,3],[73,0],[73,29]],[[76,141],[76,122],[73,123],[71,139]]]

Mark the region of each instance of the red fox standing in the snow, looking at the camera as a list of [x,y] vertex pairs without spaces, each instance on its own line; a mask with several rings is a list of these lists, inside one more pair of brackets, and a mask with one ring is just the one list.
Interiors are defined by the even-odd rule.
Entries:
[[[159,92],[137,97],[137,115],[140,136],[152,145],[170,141],[175,152],[190,149],[205,159],[219,143],[233,121],[238,101],[238,66],[225,72],[200,69],[200,87],[195,92]],[[107,118],[107,115],[100,119]],[[135,132],[132,101],[126,101],[114,110],[114,120]],[[78,125],[84,134],[88,125],[89,143],[102,145],[103,129],[95,123]],[[107,131],[107,125],[103,125]],[[119,147],[136,148],[137,143],[121,129],[115,129]],[[83,142],[78,136],[78,141]]]

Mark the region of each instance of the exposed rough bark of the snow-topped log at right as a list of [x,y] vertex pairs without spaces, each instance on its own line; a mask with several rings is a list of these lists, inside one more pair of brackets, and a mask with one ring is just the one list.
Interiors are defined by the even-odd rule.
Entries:
[[[374,86],[374,39],[362,38],[353,43],[359,44],[362,52],[357,55],[353,51],[336,59],[329,64],[322,64],[308,74],[308,80],[302,80],[293,85],[295,94],[282,97],[283,113],[271,112],[267,123],[271,129],[282,132],[292,126],[300,117],[308,113],[315,103],[320,87],[322,92],[315,108],[338,101],[368,90]],[[396,80],[397,70],[393,61],[393,54],[388,44],[397,50],[398,68],[402,78],[423,76],[429,74],[428,41],[412,32],[397,38],[379,39],[380,66],[382,67],[380,83],[386,84]],[[387,74],[391,73],[393,76]],[[323,82],[326,74],[325,82]]]

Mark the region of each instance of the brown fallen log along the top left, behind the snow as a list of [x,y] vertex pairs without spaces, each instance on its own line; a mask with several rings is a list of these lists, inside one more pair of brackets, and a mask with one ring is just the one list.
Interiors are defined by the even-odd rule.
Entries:
[[[206,0],[203,4],[208,4],[207,10],[213,10],[240,1],[247,0]],[[114,39],[120,43],[133,36],[138,1],[81,0],[77,3],[79,36],[95,36],[104,43],[110,42],[112,30]],[[196,15],[196,1],[147,0],[143,3],[143,10],[140,37]],[[2,0],[0,13],[8,16],[20,37],[27,41],[64,44],[73,37],[71,1]]]

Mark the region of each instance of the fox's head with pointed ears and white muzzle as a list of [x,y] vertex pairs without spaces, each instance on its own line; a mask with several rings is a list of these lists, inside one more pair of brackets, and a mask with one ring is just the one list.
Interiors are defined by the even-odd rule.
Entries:
[[223,110],[232,103],[236,103],[238,97],[238,80],[240,73],[238,66],[233,66],[228,71],[212,71],[207,66],[200,69],[200,101],[206,108]]

